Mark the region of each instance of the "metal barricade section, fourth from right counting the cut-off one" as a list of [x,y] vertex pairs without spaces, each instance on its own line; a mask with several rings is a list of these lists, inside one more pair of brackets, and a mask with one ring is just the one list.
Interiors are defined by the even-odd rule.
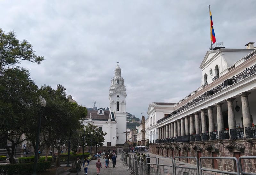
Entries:
[[[161,164],[160,160],[161,159],[170,159],[170,164]],[[157,158],[157,162],[158,162],[158,175],[165,175],[165,174],[174,174],[175,175],[175,168],[173,167],[174,163],[173,163],[173,158],[172,157],[158,157]]]

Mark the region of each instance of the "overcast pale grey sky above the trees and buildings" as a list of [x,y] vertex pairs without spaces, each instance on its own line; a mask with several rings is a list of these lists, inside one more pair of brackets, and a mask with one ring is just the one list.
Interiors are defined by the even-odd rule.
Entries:
[[255,0],[0,0],[0,28],[44,56],[40,65],[19,65],[36,85],[62,84],[85,107],[109,107],[119,61],[126,111],[141,118],[150,103],[178,102],[200,87],[209,5],[217,42],[256,42]]

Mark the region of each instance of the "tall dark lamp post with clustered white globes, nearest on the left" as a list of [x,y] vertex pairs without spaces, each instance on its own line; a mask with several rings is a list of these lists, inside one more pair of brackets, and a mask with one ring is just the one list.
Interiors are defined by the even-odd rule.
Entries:
[[38,122],[37,122],[36,150],[35,150],[35,157],[34,157],[33,175],[36,175],[38,147],[39,147],[39,139],[40,139],[41,117],[42,117],[42,107],[46,106],[46,101],[44,98],[42,98],[41,95],[38,97],[37,105],[40,105],[40,115],[39,115]]

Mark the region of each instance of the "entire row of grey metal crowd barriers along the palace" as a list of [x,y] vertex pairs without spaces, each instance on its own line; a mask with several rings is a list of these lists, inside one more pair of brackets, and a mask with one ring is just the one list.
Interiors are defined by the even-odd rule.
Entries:
[[[247,172],[243,168],[246,161],[256,162],[256,156],[242,156],[239,160],[235,157],[200,157],[198,160],[197,157],[139,157],[124,151],[120,151],[120,154],[122,163],[129,168],[131,175],[256,175],[256,172]],[[180,159],[194,160],[196,165],[185,164]],[[202,166],[205,159],[228,159],[234,162],[235,168],[233,172],[205,168]]]

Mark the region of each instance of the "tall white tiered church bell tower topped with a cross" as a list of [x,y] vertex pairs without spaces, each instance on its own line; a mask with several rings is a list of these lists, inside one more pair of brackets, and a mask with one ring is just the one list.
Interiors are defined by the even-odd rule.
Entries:
[[115,113],[116,117],[116,144],[124,144],[126,141],[126,88],[124,79],[121,77],[121,68],[117,62],[115,76],[111,79],[109,88],[109,110]]

